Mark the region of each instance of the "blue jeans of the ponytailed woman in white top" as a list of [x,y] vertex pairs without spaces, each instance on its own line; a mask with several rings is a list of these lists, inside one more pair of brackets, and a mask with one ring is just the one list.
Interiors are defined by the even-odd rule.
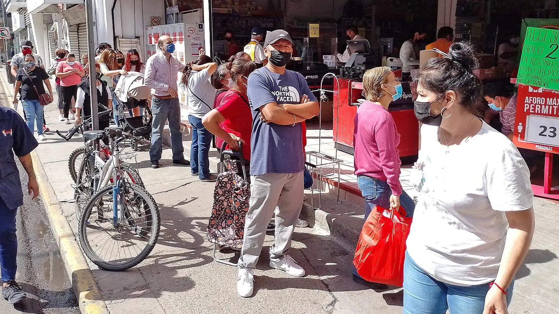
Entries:
[[190,166],[192,174],[198,174],[198,178],[210,178],[210,145],[213,135],[202,124],[202,119],[188,116],[188,122],[192,127],[192,144],[190,145]]

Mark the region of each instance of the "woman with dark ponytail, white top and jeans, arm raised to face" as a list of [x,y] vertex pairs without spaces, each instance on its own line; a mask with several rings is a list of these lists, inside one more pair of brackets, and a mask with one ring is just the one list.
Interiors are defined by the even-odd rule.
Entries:
[[202,182],[214,182],[217,178],[210,173],[210,145],[212,134],[202,124],[202,118],[214,108],[215,88],[210,83],[211,75],[217,69],[207,55],[190,61],[182,69],[181,83],[188,100],[188,122],[192,128],[190,162],[192,175],[198,175]]

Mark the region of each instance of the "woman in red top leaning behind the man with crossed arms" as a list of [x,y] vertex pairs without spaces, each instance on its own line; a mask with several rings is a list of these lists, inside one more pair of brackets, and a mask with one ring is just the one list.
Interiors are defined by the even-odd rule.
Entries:
[[[250,160],[250,134],[252,133],[252,112],[248,104],[248,75],[256,69],[256,64],[245,59],[236,59],[227,64],[231,75],[229,91],[225,92],[219,106],[208,112],[202,119],[208,131],[217,136],[216,144],[225,149],[238,150],[243,145],[243,157]],[[220,140],[223,139],[223,140]],[[221,142],[220,142],[221,141]]]

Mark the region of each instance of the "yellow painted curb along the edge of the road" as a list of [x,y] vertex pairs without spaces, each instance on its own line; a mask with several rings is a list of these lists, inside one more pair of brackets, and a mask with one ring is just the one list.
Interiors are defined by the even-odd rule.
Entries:
[[79,310],[82,314],[109,314],[107,305],[103,301],[100,288],[93,277],[93,273],[83,257],[79,244],[70,228],[68,220],[62,212],[54,189],[42,169],[41,160],[35,151],[31,152],[33,167],[46,215],[64,260],[68,277],[72,280],[72,288],[78,299]]

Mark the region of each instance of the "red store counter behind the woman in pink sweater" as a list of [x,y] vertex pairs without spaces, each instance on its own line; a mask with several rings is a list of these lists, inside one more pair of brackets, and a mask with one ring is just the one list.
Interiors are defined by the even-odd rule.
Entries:
[[[353,119],[357,112],[357,99],[363,98],[361,96],[363,84],[352,79],[339,79],[339,86],[334,83],[334,91],[338,91],[334,93],[334,142],[337,149],[353,154]],[[402,102],[413,104],[411,93],[409,95],[405,93],[404,97],[406,99]],[[399,107],[405,109],[398,110]],[[417,155],[419,150],[419,121],[415,117],[413,107],[411,109],[409,107],[405,104],[389,106],[400,134],[400,145],[398,145],[400,157]]]

